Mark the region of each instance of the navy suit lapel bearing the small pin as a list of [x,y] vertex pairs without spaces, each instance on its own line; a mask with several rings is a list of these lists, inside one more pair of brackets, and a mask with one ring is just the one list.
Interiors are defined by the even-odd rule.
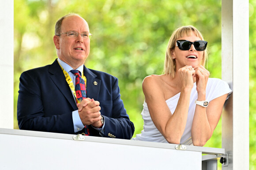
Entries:
[[87,91],[87,98],[93,98],[94,100],[98,100],[98,95],[100,92],[101,87],[101,80],[96,79],[96,75],[83,66],[83,74],[86,77],[86,91]]

